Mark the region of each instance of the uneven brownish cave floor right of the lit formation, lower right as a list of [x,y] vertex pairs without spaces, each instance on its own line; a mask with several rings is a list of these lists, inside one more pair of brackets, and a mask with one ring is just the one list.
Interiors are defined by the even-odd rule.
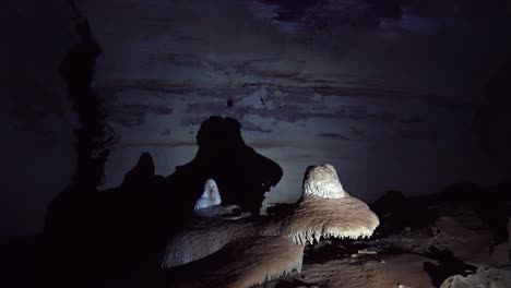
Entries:
[[433,225],[419,229],[405,227],[387,236],[379,236],[377,231],[369,240],[323,240],[309,244],[305,250],[301,273],[293,273],[258,287],[438,287],[425,271],[425,263],[439,265],[447,274],[456,273],[440,263],[438,256],[431,253],[431,248],[452,251],[455,256],[453,261],[456,261],[456,265],[467,265],[468,275],[475,274],[477,268],[498,275],[498,279],[489,279],[487,285],[466,287],[511,287],[509,243],[498,244],[491,252],[492,235],[482,228],[480,220],[474,214],[468,209],[445,214]]

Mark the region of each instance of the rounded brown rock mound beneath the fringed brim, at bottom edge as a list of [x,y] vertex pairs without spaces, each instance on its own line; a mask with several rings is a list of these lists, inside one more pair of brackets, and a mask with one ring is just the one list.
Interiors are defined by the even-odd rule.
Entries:
[[169,287],[251,287],[300,272],[302,255],[304,247],[286,238],[242,238],[178,269]]

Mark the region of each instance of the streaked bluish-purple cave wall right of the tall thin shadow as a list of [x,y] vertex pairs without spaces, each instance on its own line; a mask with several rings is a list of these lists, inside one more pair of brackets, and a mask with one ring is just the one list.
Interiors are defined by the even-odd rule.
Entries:
[[247,144],[283,167],[269,202],[298,197],[318,163],[366,200],[502,178],[472,120],[509,48],[506,25],[301,2],[281,20],[285,7],[271,1],[83,1],[106,51],[97,87],[121,135],[106,187],[145,151],[171,173],[211,115],[236,117]]

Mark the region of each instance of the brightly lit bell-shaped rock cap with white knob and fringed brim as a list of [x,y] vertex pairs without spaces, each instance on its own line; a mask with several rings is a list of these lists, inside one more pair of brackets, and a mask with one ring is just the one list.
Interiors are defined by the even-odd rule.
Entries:
[[344,191],[335,168],[325,164],[307,168],[304,196],[281,233],[306,244],[320,238],[370,237],[378,225],[378,216]]

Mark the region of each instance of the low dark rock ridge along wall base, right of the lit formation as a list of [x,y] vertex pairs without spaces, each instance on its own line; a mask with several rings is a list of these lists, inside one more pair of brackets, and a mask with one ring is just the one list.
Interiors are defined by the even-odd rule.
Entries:
[[452,211],[473,211],[482,220],[482,228],[489,229],[494,235],[491,249],[508,239],[507,223],[511,213],[509,191],[510,180],[488,187],[454,183],[441,193],[421,196],[407,197],[401,191],[388,191],[370,206],[382,219],[377,229],[380,236],[397,232],[405,227],[432,225],[439,215],[439,211],[433,208],[438,205],[449,206]]

